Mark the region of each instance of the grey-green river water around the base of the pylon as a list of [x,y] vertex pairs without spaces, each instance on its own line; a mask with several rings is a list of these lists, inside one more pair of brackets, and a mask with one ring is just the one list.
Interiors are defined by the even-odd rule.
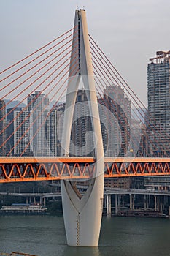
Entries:
[[62,216],[1,216],[0,252],[38,256],[170,256],[170,219],[103,217],[97,248],[66,245]]

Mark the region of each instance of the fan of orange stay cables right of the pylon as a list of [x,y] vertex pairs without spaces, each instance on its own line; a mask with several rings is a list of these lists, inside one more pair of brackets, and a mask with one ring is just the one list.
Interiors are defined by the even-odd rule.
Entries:
[[[153,120],[152,116],[150,116],[150,113],[147,113],[147,108],[144,106],[142,101],[139,99],[139,97],[134,93],[134,91],[131,89],[131,87],[128,85],[128,83],[123,79],[123,77],[120,75],[120,73],[115,69],[111,61],[107,58],[107,56],[104,54],[104,52],[101,50],[101,48],[98,47],[94,39],[89,35],[90,37],[90,50],[91,50],[91,56],[93,60],[93,69],[94,69],[94,75],[96,75],[96,79],[98,80],[98,83],[100,84],[98,91],[100,91],[100,97],[104,91],[104,89],[107,89],[109,86],[121,86],[121,88],[124,91],[125,97],[127,99],[130,99],[131,101],[131,116],[134,120],[139,120],[140,126],[142,127],[142,135],[145,136],[146,141],[150,144],[150,147],[152,147],[154,150],[157,150],[158,148],[155,148],[156,145],[158,146],[158,142],[156,140],[151,140],[149,136],[148,129],[150,129],[150,124]],[[99,78],[99,79],[98,79]],[[97,83],[97,86],[98,86]],[[99,92],[98,92],[99,94]],[[118,99],[117,99],[118,100]],[[109,101],[107,99],[107,104],[105,102],[106,107],[108,108]],[[131,125],[133,128],[133,125]],[[128,131],[126,131],[128,132]],[[160,136],[163,136],[166,143],[169,143],[169,136],[165,135],[163,132],[163,129],[161,131],[157,131]],[[134,145],[136,143],[136,138],[134,135]],[[159,145],[159,148],[163,151],[164,145],[163,143]],[[140,152],[141,148],[139,148],[138,154],[139,156],[146,156],[147,152]]]

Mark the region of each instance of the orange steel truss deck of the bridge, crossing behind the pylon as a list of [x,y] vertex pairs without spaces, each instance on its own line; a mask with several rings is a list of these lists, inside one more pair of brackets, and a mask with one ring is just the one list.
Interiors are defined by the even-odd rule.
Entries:
[[[87,179],[94,173],[93,157],[0,157],[0,183]],[[170,175],[170,158],[104,159],[104,177]]]

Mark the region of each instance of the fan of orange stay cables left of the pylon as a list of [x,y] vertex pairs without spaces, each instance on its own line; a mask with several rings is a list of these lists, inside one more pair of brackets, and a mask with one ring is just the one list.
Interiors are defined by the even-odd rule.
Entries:
[[[33,146],[34,138],[41,134],[41,130],[47,129],[50,114],[64,100],[69,86],[68,77],[78,75],[78,39],[74,37],[73,45],[72,37],[73,29],[70,29],[1,72],[4,75],[1,79],[1,99],[7,100],[9,97],[9,100],[0,108],[1,113],[7,108],[7,112],[0,116],[0,138],[5,135],[4,140],[0,140],[0,151],[5,148],[8,157],[18,155],[16,148],[21,144],[20,156],[28,154],[27,149]],[[72,51],[75,57],[71,61]],[[71,65],[72,72],[69,70]],[[10,108],[14,100],[16,104]],[[39,123],[39,127],[36,123]]]

